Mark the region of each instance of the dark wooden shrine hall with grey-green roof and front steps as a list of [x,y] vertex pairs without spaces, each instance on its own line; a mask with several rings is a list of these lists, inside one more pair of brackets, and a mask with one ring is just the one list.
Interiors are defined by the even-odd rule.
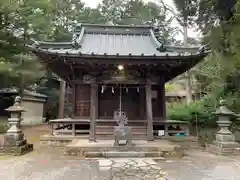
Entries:
[[156,34],[151,26],[79,24],[71,42],[34,42],[31,50],[70,84],[72,122],[87,123],[91,140],[113,137],[116,111],[127,115],[133,139],[153,140],[154,124],[166,120],[165,83],[207,55]]

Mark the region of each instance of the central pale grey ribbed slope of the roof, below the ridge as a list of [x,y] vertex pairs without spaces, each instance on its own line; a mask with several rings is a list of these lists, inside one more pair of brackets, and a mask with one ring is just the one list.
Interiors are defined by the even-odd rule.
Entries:
[[161,55],[149,35],[85,34],[81,44],[82,54]]

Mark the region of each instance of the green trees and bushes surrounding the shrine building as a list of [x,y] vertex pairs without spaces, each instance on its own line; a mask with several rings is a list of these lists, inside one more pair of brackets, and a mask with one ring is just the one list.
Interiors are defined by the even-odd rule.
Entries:
[[[174,44],[179,29],[170,26],[173,18],[181,25],[196,23],[204,34],[204,44],[212,47],[212,53],[204,62],[191,70],[208,95],[200,102],[189,105],[168,105],[170,119],[190,120],[193,112],[204,122],[214,118],[220,97],[228,106],[240,112],[240,21],[239,1],[235,18],[234,0],[174,0],[178,13],[169,18],[169,11],[162,4],[144,3],[143,0],[104,0],[98,8],[85,7],[79,0],[1,0],[0,2],[0,81],[2,87],[13,84],[20,91],[37,83],[37,91],[46,94],[48,114],[55,118],[58,108],[59,84],[45,73],[38,59],[28,54],[28,41],[69,41],[76,23],[112,22],[114,24],[151,24],[158,28],[156,35],[164,44]],[[226,7],[226,8],[225,8]],[[198,44],[194,39],[191,44]],[[171,89],[171,86],[168,86]],[[70,114],[71,109],[66,108]],[[209,120],[210,119],[210,120]]]

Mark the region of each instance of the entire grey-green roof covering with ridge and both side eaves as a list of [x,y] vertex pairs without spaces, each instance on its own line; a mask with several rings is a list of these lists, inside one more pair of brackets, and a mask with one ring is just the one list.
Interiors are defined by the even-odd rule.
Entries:
[[[200,54],[200,47],[163,46],[150,26],[76,26],[73,42],[38,42],[38,50],[70,55],[178,56]],[[164,47],[164,51],[160,49]],[[189,52],[189,54],[186,54]]]

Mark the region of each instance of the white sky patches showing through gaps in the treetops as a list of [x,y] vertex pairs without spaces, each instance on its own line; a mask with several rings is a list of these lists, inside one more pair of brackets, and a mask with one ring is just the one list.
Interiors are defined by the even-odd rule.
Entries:
[[[97,7],[97,5],[102,1],[102,0],[82,0],[87,6],[95,8]],[[158,0],[143,0],[144,2],[155,2],[158,3]],[[163,0],[164,3],[166,3],[167,5],[171,6],[174,10],[176,10],[172,0]],[[172,26],[176,27],[179,26],[177,21],[173,21]],[[192,38],[199,38],[200,34],[199,32],[196,32],[195,29],[188,29],[188,36],[192,37]],[[183,40],[183,37],[181,34],[176,36],[176,39],[178,40]]]

